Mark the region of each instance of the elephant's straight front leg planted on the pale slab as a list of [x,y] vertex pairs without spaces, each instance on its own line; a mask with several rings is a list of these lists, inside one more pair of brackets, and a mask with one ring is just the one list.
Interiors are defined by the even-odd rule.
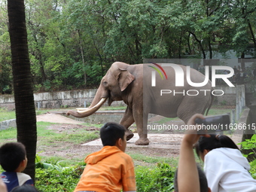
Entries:
[[143,114],[140,112],[134,112],[133,117],[136,122],[139,139],[135,142],[135,145],[148,145],[148,130],[147,130],[147,124],[148,124],[148,114]]

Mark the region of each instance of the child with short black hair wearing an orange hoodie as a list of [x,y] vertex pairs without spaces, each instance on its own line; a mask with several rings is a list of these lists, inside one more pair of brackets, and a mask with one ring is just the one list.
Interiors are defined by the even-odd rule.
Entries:
[[103,148],[85,158],[87,166],[74,192],[136,191],[132,158],[125,154],[125,128],[118,123],[105,123],[100,130]]

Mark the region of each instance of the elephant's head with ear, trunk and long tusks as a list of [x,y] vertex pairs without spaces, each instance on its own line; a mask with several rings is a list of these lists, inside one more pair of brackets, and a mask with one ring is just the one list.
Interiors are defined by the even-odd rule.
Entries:
[[68,111],[67,115],[87,117],[95,113],[108,99],[108,105],[113,101],[123,100],[123,91],[133,82],[135,77],[127,70],[124,62],[114,62],[106,75],[102,78],[96,96],[89,108],[78,108],[77,111]]

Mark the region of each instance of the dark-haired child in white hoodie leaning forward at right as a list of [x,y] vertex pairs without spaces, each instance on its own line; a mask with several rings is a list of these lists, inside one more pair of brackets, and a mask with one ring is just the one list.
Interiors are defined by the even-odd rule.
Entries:
[[256,180],[248,172],[248,160],[228,136],[210,134],[209,138],[200,137],[195,147],[204,162],[212,192],[256,191]]

